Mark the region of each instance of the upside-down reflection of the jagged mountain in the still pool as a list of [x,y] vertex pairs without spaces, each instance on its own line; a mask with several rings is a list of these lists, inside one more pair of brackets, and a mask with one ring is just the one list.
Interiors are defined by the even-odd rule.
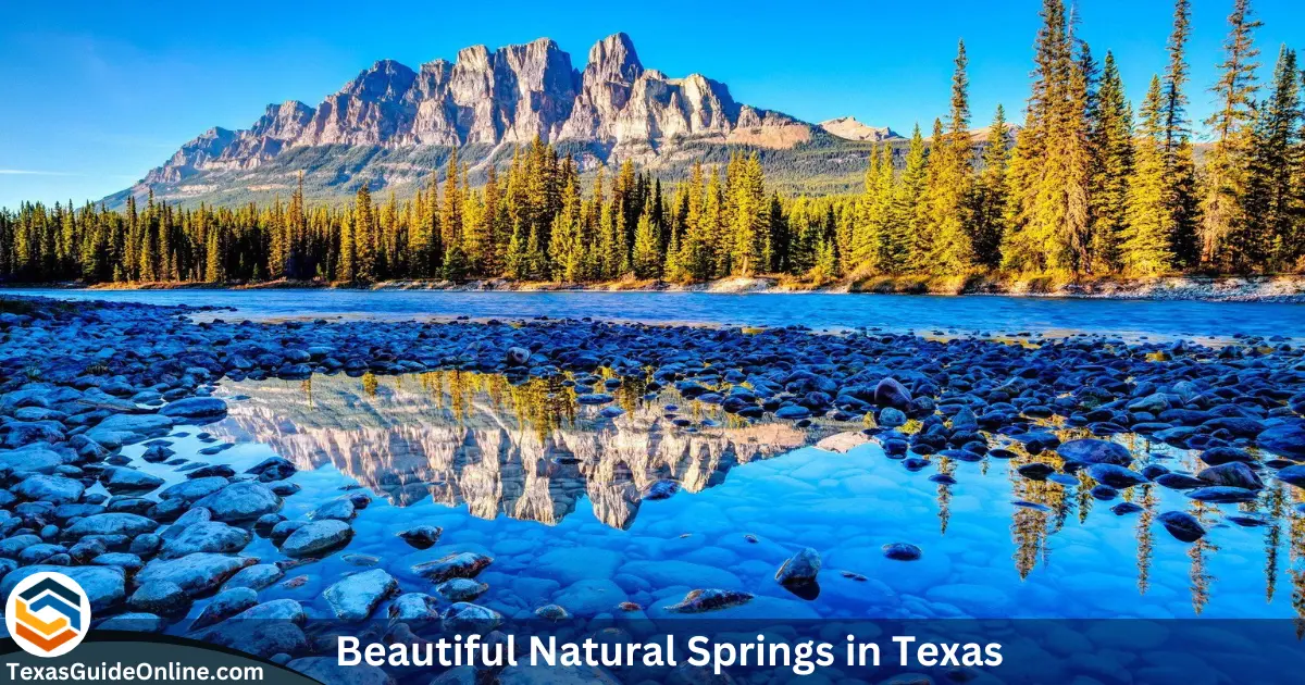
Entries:
[[392,381],[368,393],[359,378],[317,377],[311,395],[283,381],[235,384],[249,399],[206,429],[266,444],[300,470],[333,466],[401,506],[432,498],[482,518],[553,525],[589,497],[595,515],[620,528],[658,480],[699,492],[736,464],[823,434],[778,423],[686,432],[655,403],[615,420],[552,401],[542,411],[538,393],[484,376],[474,388],[440,373]]

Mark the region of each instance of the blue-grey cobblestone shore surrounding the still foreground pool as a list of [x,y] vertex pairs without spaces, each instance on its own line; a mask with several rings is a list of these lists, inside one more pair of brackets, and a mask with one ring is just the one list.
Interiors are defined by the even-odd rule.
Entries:
[[[200,312],[215,318],[193,321]],[[940,341],[587,320],[256,324],[223,316],[196,307],[0,299],[0,591],[60,570],[87,591],[100,628],[181,632],[321,668],[315,658],[331,654],[331,635],[305,634],[309,616],[299,601],[261,600],[260,592],[288,569],[346,548],[371,496],[346,492],[290,518],[282,510],[299,485],[288,480],[288,461],[238,472],[222,458],[231,445],[218,442],[200,450],[206,462],[176,458],[164,436],[177,427],[202,432],[223,418],[227,406],[214,390],[224,380],[433,369],[501,373],[513,382],[561,378],[579,403],[616,418],[622,410],[613,389],[639,378],[650,393],[673,389],[740,421],[864,421],[868,428],[848,440],[878,442],[906,470],[938,471],[929,478],[940,484],[951,478],[938,468],[944,461],[1014,459],[1030,480],[1086,475],[1101,501],[1143,484],[1211,505],[1251,501],[1272,479],[1305,488],[1305,348],[1283,337],[1216,348],[1019,333]],[[675,407],[666,412],[680,418]],[[675,425],[694,429],[686,419]],[[1064,440],[1064,429],[1074,437]],[[1111,440],[1117,434],[1194,450],[1203,467],[1142,463]],[[125,457],[123,448],[134,445],[144,453]],[[141,462],[174,466],[185,479],[164,487]],[[664,489],[673,495],[673,484]],[[1125,500],[1116,514],[1134,511]],[[1184,543],[1208,532],[1182,510],[1158,519]],[[419,549],[448,543],[438,528],[395,532]],[[284,558],[241,553],[256,538]],[[495,560],[458,551],[455,541],[445,549],[412,566],[424,585],[382,569],[325,579],[331,616],[312,618],[389,616],[388,637],[410,639],[424,625],[489,632],[506,618],[570,617],[556,604],[518,617],[475,604],[484,591],[476,577]],[[907,562],[920,553],[904,541],[885,549]],[[774,564],[776,582],[799,598],[821,569],[812,549]],[[707,613],[750,600],[744,587],[706,586],[662,611]],[[181,624],[192,607],[202,611]]]

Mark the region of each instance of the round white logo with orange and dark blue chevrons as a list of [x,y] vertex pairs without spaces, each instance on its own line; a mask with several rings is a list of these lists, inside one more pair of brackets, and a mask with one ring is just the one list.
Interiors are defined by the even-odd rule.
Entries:
[[61,656],[90,629],[90,599],[61,573],[34,573],[14,586],[4,605],[9,635],[27,654]]

